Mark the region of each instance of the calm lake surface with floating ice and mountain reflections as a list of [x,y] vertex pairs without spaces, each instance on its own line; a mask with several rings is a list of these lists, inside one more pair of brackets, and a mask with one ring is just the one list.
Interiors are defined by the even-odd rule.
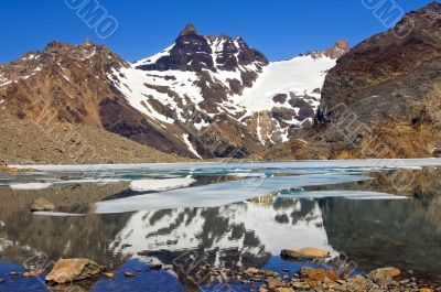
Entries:
[[[7,283],[0,291],[30,284],[45,291],[37,279],[8,277],[37,253],[86,257],[116,271],[114,281],[101,279],[90,291],[191,291],[189,277],[146,266],[171,264],[190,251],[214,266],[294,272],[304,263],[278,256],[289,247],[344,252],[359,271],[394,266],[439,281],[437,165],[441,161],[143,164],[1,174],[0,278]],[[39,197],[55,203],[56,212],[29,213]],[[128,270],[137,277],[125,279]]]

